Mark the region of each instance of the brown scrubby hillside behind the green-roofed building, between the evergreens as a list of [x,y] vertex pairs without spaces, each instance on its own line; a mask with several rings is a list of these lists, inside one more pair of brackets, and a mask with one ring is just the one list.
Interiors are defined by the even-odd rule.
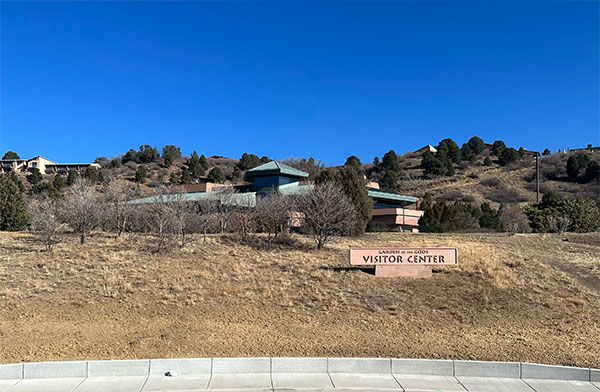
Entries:
[[[540,158],[541,194],[555,192],[566,198],[589,197],[600,203],[600,181],[573,180],[567,176],[567,160],[575,154],[580,153],[555,153]],[[585,154],[593,161],[600,162],[600,152]],[[159,155],[156,157],[156,161],[143,164],[147,170],[147,176],[145,181],[139,184],[140,195],[149,195],[162,185],[172,184],[172,177],[179,179],[182,170],[187,167],[186,162],[189,159],[188,157],[179,157],[174,159],[169,167],[165,167],[162,164],[163,159]],[[536,200],[535,159],[531,155],[525,155],[521,159],[503,166],[498,162],[498,157],[492,154],[491,149],[486,147],[472,160],[453,164],[454,175],[433,177],[424,174],[422,158],[423,154],[413,152],[397,156],[397,185],[392,190],[418,197],[423,197],[426,192],[429,192],[435,199],[462,200],[477,205],[487,201],[494,208],[498,208],[500,205],[522,205]],[[490,159],[491,162],[487,166],[485,165],[486,159]],[[141,166],[139,163],[129,161],[119,167],[111,167],[106,163],[109,160],[106,158],[104,160],[104,167],[101,170],[104,179],[114,178],[133,182],[136,170]],[[258,157],[256,160],[258,162]],[[324,168],[320,161],[315,162],[312,158],[309,160],[290,158],[285,162],[308,171],[311,175],[318,174]],[[225,176],[225,182],[239,183],[242,181],[244,173],[243,170],[236,168],[239,164],[240,161],[233,158],[208,157],[205,175],[193,182],[209,181],[207,174],[217,167]],[[378,165],[363,163],[362,171],[369,181],[380,182],[386,169],[382,163]],[[31,186],[25,177],[26,173],[20,174],[21,182],[29,191]],[[52,183],[54,175],[45,175],[44,180]]]

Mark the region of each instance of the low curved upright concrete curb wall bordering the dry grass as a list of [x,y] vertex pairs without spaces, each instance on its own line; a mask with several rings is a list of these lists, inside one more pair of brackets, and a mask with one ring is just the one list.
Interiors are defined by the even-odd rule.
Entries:
[[0,365],[0,380],[250,373],[361,373],[600,382],[600,370],[520,362],[398,358],[187,358]]

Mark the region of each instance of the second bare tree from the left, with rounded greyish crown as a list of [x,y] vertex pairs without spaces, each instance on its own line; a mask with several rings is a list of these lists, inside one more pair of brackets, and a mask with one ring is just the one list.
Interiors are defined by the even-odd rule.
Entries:
[[98,196],[92,183],[86,178],[79,177],[65,196],[60,209],[60,215],[73,230],[79,233],[79,242],[85,243],[85,236],[97,223]]

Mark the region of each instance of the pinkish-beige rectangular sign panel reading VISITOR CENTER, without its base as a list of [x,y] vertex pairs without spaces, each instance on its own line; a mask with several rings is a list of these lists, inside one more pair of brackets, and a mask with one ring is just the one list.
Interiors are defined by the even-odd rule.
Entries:
[[456,265],[456,248],[351,248],[350,265]]

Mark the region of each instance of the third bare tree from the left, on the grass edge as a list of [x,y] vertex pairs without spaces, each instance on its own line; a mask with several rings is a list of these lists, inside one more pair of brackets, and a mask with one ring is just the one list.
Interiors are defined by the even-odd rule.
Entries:
[[131,183],[111,180],[103,191],[104,223],[120,237],[132,219],[134,205],[127,202],[135,198],[137,187]]

